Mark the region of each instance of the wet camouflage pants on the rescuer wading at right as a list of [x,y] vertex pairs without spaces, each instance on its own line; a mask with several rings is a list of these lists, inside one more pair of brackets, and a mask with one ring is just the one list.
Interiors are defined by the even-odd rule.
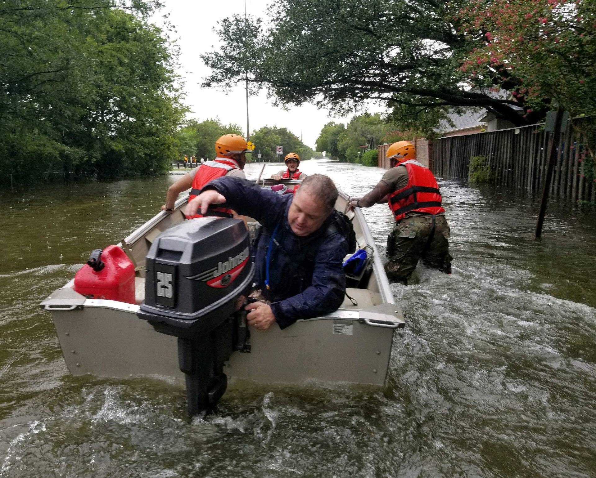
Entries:
[[449,225],[445,216],[403,218],[387,238],[387,257],[387,277],[404,284],[408,283],[419,259],[427,267],[451,274]]

